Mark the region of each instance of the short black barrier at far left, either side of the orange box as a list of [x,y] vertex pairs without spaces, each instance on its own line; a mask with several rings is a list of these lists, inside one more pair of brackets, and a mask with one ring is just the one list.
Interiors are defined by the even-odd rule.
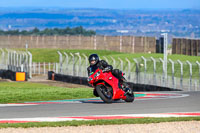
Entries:
[[[16,72],[11,70],[0,70],[0,77],[2,79],[10,79],[12,81],[16,81]],[[25,73],[25,81],[28,80],[28,74]]]

